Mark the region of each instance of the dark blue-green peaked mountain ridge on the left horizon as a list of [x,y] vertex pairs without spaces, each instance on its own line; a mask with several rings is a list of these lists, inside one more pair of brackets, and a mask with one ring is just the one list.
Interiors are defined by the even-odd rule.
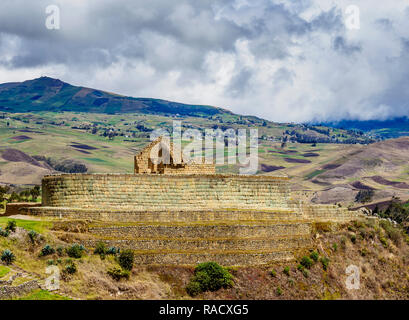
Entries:
[[40,77],[0,84],[0,110],[5,112],[81,111],[212,116],[231,111],[155,98],[135,98],[103,90],[74,86],[59,79]]

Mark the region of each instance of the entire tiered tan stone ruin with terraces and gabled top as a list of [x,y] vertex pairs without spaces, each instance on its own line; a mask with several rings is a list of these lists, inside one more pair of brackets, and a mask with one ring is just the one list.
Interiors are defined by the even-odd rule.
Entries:
[[75,241],[86,247],[104,241],[133,249],[136,263],[170,265],[291,260],[311,246],[316,223],[358,217],[346,208],[293,199],[288,177],[221,175],[214,166],[183,162],[155,166],[147,154],[157,144],[136,156],[135,174],[46,176],[42,206],[20,212],[55,225],[81,220],[87,231]]

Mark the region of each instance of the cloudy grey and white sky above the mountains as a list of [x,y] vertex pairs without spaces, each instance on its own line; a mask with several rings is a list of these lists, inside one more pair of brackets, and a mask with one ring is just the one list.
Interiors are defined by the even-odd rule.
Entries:
[[274,121],[409,116],[409,1],[1,0],[0,82],[41,75]]

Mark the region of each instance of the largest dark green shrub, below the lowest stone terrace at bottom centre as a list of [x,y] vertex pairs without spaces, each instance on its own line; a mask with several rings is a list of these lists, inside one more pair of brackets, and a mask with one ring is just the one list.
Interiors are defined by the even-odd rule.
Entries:
[[[197,284],[191,284],[196,282]],[[186,291],[197,294],[205,291],[216,291],[233,285],[233,276],[216,262],[200,263],[195,268],[195,275],[191,279]],[[200,288],[200,290],[197,290]]]

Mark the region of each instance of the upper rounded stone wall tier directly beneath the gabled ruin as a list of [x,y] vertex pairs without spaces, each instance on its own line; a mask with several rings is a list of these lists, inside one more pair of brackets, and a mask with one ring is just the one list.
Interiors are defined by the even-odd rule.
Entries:
[[42,182],[46,207],[132,210],[285,208],[288,178],[236,175],[63,174]]

